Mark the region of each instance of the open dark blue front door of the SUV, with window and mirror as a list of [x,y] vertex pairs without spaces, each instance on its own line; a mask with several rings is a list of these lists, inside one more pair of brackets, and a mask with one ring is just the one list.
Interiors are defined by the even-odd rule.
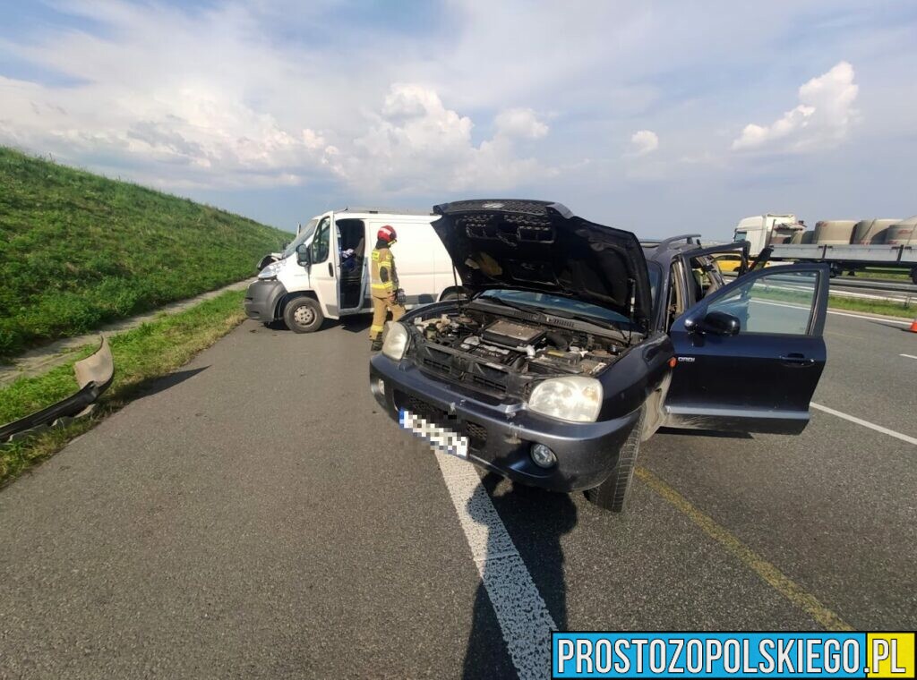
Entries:
[[752,271],[679,316],[664,425],[801,433],[826,357],[828,280],[826,265]]

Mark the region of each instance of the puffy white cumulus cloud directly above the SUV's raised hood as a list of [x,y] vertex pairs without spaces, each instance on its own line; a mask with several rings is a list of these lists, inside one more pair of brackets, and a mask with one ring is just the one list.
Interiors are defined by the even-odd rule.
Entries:
[[535,159],[519,159],[514,139],[547,135],[547,126],[526,109],[497,115],[496,133],[475,146],[474,124],[448,109],[435,90],[396,83],[366,134],[333,164],[362,191],[500,191],[551,173]]

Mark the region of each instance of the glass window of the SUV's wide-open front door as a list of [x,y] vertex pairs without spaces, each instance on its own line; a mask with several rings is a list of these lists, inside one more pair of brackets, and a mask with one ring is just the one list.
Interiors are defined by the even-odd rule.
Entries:
[[775,271],[737,285],[714,300],[707,313],[732,314],[741,324],[740,333],[809,335],[817,286],[818,272]]

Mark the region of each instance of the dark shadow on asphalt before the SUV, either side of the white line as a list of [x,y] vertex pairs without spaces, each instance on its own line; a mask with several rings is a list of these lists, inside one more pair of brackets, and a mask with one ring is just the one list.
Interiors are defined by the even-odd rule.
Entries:
[[[516,550],[522,556],[529,574],[535,582],[547,610],[558,626],[567,628],[567,587],[564,577],[564,552],[560,538],[577,524],[577,509],[569,494],[551,493],[537,488],[513,484],[498,475],[488,474],[481,479],[493,507],[503,520],[506,531]],[[502,492],[501,492],[502,490]],[[472,519],[476,508],[469,503]],[[505,548],[488,536],[487,552],[494,554]],[[484,577],[487,563],[484,564]],[[462,669],[464,678],[513,676],[503,633],[493,612],[490,597],[483,580],[474,598],[468,646]]]

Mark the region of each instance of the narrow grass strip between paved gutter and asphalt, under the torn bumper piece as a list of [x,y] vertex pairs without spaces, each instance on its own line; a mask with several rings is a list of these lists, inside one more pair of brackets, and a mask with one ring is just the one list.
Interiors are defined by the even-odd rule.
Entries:
[[[243,291],[229,291],[180,313],[163,315],[109,338],[115,379],[94,413],[61,429],[52,429],[13,444],[0,444],[0,484],[60,450],[106,415],[117,411],[150,380],[185,364],[193,355],[226,335],[242,321]],[[0,390],[0,423],[11,422],[76,391],[73,363],[95,347],[74,353],[73,360],[38,378],[22,378]]]

